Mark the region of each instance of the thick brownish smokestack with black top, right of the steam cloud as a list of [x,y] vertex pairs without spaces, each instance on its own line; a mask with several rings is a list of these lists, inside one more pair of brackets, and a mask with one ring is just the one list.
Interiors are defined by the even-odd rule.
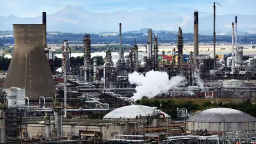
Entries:
[[199,55],[199,46],[198,46],[198,12],[194,12],[194,64],[196,68],[199,68],[198,60],[196,59]]

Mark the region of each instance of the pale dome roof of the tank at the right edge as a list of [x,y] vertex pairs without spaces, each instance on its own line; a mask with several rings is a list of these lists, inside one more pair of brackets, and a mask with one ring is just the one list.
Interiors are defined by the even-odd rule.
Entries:
[[190,122],[256,122],[256,118],[231,108],[211,108],[188,118]]

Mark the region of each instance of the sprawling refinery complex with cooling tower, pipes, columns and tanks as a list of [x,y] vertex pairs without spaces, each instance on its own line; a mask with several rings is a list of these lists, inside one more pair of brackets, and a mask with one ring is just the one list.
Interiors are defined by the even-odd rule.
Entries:
[[[54,70],[54,51],[46,43],[46,13],[42,24],[14,24],[14,51],[0,92],[0,143],[254,142],[256,118],[249,114],[228,108],[178,109],[178,116],[185,121],[172,121],[161,109],[137,105],[132,98],[137,85],[129,81],[134,73],[162,71],[169,79],[182,76],[187,83],[155,98],[254,99],[256,60],[243,60],[243,47],[237,43],[237,17],[234,20],[231,54],[215,54],[214,3],[213,58],[199,53],[195,11],[194,52],[190,54],[183,54],[182,27],[170,55],[158,51],[157,35],[148,28],[143,61],[139,61],[136,39],[124,57],[119,23],[116,63],[110,49],[103,65],[97,65],[96,58],[92,61],[91,37],[85,34],[83,66],[72,67],[72,51],[65,39],[61,73]],[[101,112],[107,113],[102,119],[88,119],[89,114]]]

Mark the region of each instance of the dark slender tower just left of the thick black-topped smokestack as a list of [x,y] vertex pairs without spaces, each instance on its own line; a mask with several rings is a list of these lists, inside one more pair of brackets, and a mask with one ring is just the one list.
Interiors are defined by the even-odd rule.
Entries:
[[178,31],[177,48],[178,48],[178,63],[179,65],[182,65],[183,64],[183,36],[182,36],[182,30],[180,27]]

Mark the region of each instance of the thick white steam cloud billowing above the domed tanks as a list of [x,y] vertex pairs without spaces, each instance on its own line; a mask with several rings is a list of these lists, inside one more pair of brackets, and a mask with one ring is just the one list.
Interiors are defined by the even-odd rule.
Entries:
[[186,84],[186,78],[182,76],[175,76],[169,80],[166,72],[162,71],[148,71],[145,76],[134,72],[128,75],[129,82],[136,84],[136,93],[133,94],[132,99],[139,100],[143,96],[154,98],[157,94],[165,93],[168,90]]

